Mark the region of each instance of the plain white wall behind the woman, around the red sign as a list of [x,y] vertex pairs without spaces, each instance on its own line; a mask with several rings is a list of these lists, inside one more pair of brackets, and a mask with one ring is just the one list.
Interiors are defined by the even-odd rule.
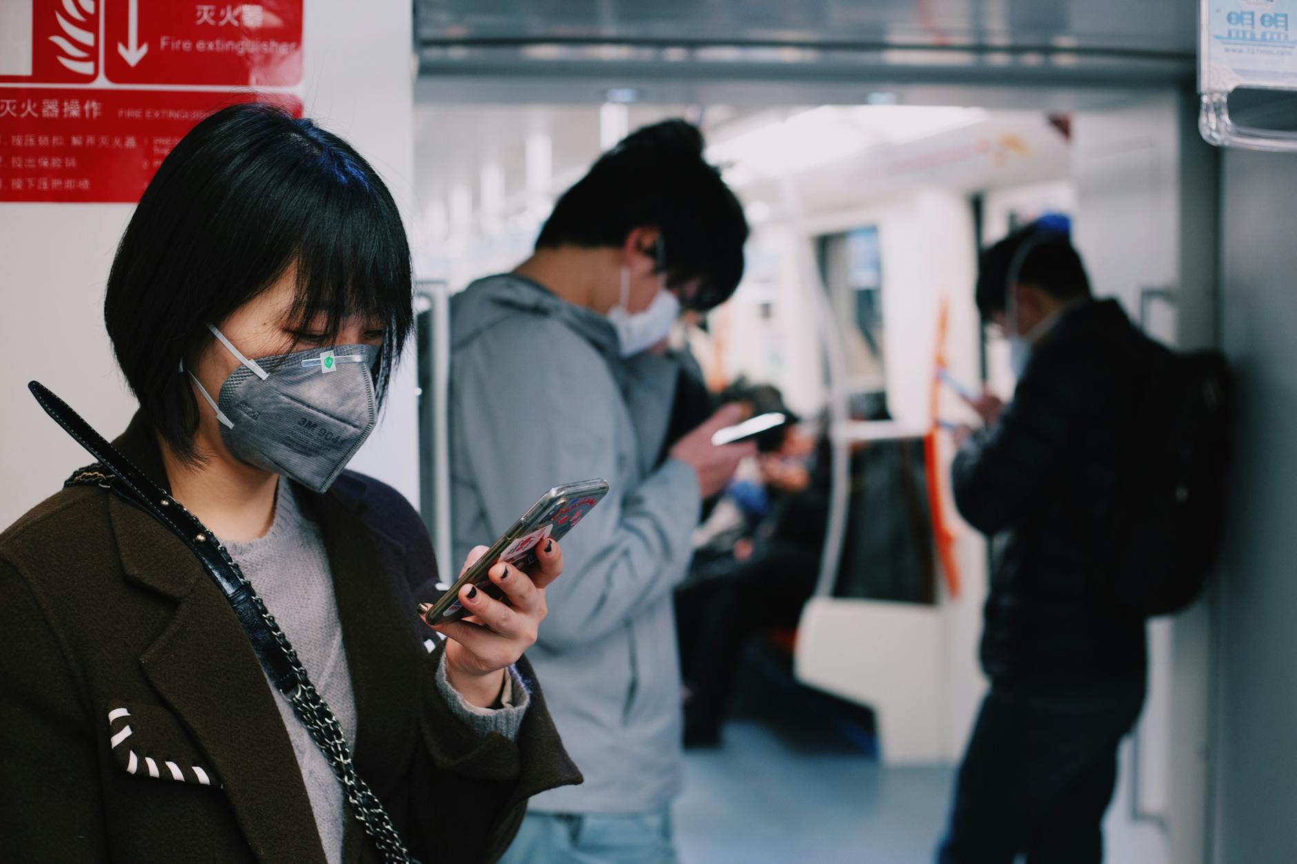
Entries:
[[[414,174],[410,4],[307,3],[305,110],[383,175],[403,214]],[[104,283],[128,205],[0,204],[0,527],[91,461],[26,392],[39,379],[108,437],[134,411],[104,333]],[[409,218],[406,218],[409,224]],[[384,422],[353,463],[418,502],[414,368],[393,381]]]

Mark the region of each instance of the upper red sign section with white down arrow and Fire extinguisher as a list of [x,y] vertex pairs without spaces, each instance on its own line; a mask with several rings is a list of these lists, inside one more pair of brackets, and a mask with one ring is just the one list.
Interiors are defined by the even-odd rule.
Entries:
[[302,0],[114,0],[104,54],[119,84],[292,87],[302,80]]

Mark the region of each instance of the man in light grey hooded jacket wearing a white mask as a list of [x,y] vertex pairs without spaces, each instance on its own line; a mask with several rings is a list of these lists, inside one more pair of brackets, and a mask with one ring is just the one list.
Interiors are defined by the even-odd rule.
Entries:
[[507,863],[674,860],[672,589],[700,502],[752,451],[711,442],[738,422],[733,406],[665,441],[680,370],[647,350],[743,271],[743,210],[702,148],[682,121],[632,134],[564,193],[530,258],[451,304],[455,554],[553,485],[611,486],[564,538],[565,573],[528,653],[585,784],[532,799]]

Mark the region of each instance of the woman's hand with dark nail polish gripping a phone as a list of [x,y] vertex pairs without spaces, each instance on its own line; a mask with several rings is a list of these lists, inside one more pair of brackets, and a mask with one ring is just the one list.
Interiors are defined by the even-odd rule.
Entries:
[[[468,553],[460,575],[485,554],[486,546]],[[459,621],[429,624],[446,637],[446,677],[468,701],[489,708],[505,688],[505,669],[523,656],[536,642],[536,632],[545,619],[545,586],[563,572],[563,550],[553,540],[536,547],[536,567],[530,573],[511,564],[495,564],[490,581],[505,592],[503,603],[486,592],[464,585],[459,602],[472,615]]]

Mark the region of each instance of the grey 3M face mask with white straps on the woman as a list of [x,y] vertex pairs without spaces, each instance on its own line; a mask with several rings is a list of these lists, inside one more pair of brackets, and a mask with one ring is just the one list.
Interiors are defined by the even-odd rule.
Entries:
[[189,372],[217,413],[226,448],[243,462],[327,490],[377,420],[370,370],[379,349],[339,345],[252,361],[215,327],[208,330],[240,363],[215,401]]

